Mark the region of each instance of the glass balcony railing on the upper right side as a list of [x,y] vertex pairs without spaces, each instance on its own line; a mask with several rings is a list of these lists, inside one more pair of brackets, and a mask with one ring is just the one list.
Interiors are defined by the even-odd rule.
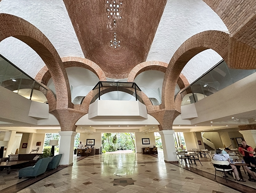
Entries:
[[254,69],[231,69],[222,60],[180,93],[182,98],[181,106],[200,101],[255,72],[256,70]]

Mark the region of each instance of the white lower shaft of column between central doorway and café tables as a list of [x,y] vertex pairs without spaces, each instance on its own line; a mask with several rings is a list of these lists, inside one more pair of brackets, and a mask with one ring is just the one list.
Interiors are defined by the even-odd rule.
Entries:
[[176,162],[177,155],[173,138],[174,130],[161,130],[159,134],[161,135],[162,146],[163,146],[163,156],[165,162]]

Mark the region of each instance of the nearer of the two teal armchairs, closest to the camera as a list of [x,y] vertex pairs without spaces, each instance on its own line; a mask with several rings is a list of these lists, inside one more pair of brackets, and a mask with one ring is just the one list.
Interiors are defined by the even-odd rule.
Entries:
[[37,177],[45,173],[51,158],[42,158],[34,166],[25,167],[19,170],[19,179],[22,177]]

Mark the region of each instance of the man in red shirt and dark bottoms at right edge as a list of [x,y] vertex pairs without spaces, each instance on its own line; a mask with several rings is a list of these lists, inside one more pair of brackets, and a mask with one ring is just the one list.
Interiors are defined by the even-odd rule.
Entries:
[[[242,141],[242,145],[238,148],[238,151],[244,156],[244,162],[250,164],[252,167],[255,167],[256,160],[253,157],[253,148],[246,144],[246,141]],[[253,177],[253,179],[249,179],[249,181],[256,182],[255,174],[249,170],[247,166],[244,166],[247,172]]]

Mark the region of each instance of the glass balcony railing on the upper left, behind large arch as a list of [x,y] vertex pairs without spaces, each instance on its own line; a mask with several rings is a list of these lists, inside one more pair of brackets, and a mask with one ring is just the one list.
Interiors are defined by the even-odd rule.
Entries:
[[[0,86],[32,101],[47,103],[46,93],[50,90],[0,54]],[[53,92],[55,98],[56,95]]]

